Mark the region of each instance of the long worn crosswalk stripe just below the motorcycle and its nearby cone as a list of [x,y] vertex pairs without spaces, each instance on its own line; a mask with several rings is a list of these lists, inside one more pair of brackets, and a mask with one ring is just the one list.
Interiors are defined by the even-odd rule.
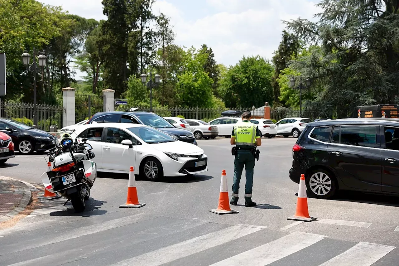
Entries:
[[[114,220],[103,222],[101,224],[93,224],[93,225],[89,225],[89,226],[83,226],[80,228],[76,228],[74,230],[70,230],[67,232],[62,232],[60,234],[57,234],[57,237],[54,237],[54,238],[53,237],[44,238],[44,241],[42,241],[42,242],[38,241],[35,243],[24,244],[23,246],[17,245],[15,247],[15,250],[13,250],[13,252],[27,250],[30,248],[38,248],[40,246],[54,244],[54,243],[58,243],[61,241],[71,240],[73,238],[78,238],[81,236],[87,236],[89,234],[103,232],[105,230],[110,230],[113,228],[118,228],[118,227],[122,227],[122,226],[129,225],[129,224],[134,224],[143,216],[143,214],[145,214],[145,213],[134,214],[134,215],[130,215],[130,216],[122,217],[122,218],[117,218]],[[0,255],[2,255],[1,252],[0,252]]]

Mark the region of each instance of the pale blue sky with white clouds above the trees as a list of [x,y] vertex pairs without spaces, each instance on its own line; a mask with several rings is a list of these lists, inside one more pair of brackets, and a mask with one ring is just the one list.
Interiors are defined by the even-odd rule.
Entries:
[[[96,20],[106,19],[101,0],[39,0],[62,6],[71,14]],[[211,47],[215,60],[226,66],[235,65],[243,56],[270,59],[277,50],[282,20],[307,18],[321,10],[320,0],[156,0],[155,14],[170,17],[181,46],[201,44]],[[62,3],[62,4],[60,4]],[[83,74],[77,71],[76,78]]]

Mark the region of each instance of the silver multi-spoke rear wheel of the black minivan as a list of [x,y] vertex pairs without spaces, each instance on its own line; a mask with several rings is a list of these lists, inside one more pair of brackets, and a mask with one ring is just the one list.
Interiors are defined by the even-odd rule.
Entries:
[[311,197],[328,199],[334,196],[337,185],[335,177],[330,171],[316,169],[306,177],[306,188]]

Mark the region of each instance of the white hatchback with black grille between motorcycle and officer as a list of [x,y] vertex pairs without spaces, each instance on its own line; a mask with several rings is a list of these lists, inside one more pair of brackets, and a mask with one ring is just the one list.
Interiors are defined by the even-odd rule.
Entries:
[[78,127],[74,137],[88,139],[100,172],[129,173],[132,166],[134,174],[156,180],[207,171],[208,158],[203,149],[146,125],[87,124]]

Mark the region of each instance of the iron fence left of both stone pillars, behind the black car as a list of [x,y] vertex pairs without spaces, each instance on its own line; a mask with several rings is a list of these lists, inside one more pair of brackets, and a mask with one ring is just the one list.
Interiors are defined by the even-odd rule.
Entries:
[[[38,129],[49,131],[51,125],[63,127],[63,107],[58,105],[38,104]],[[14,119],[26,125],[33,125],[33,103],[10,103],[0,101],[0,117]]]

